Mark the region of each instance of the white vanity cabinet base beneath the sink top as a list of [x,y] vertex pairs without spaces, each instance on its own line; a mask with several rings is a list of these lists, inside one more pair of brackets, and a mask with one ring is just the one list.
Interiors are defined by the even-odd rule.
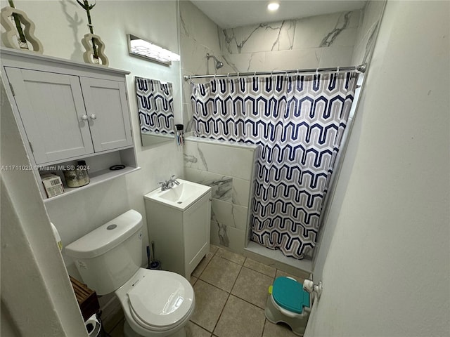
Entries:
[[155,242],[155,258],[163,270],[191,279],[195,267],[210,251],[211,189],[186,209],[148,196],[144,197],[148,235],[150,242]]

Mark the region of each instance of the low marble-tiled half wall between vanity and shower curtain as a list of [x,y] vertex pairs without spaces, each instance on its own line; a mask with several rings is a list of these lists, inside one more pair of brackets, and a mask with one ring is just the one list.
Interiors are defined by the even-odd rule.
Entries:
[[243,253],[250,216],[255,145],[187,139],[184,176],[212,187],[211,243]]

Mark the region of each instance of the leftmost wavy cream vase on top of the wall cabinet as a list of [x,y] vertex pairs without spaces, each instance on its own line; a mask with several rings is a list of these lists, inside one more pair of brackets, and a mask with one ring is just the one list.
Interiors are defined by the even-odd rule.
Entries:
[[9,48],[44,53],[41,41],[34,36],[34,22],[25,12],[15,8],[13,0],[8,0],[8,4],[0,12],[0,22],[5,29],[1,34],[1,41]]

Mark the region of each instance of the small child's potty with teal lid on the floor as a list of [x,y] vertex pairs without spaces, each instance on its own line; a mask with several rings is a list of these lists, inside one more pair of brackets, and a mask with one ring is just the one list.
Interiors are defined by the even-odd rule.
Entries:
[[303,285],[292,277],[277,277],[269,287],[264,314],[269,322],[283,322],[297,336],[303,336],[310,310],[310,296]]

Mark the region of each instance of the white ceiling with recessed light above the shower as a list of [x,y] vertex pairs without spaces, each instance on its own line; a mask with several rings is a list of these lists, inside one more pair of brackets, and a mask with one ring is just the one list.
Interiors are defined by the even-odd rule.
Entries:
[[[354,11],[366,1],[358,0],[191,0],[200,11],[222,29],[255,25],[309,16]],[[269,2],[278,2],[275,13],[267,10]]]

